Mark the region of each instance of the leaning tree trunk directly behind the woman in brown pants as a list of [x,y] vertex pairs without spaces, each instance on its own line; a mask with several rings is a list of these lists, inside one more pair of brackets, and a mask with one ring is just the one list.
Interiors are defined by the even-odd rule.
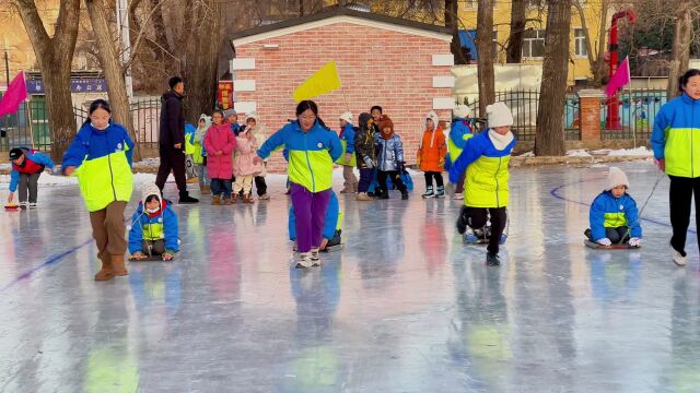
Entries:
[[129,131],[129,135],[136,143],[133,160],[141,160],[139,139],[133,129],[133,119],[131,118],[129,97],[127,96],[127,87],[124,80],[125,72],[119,60],[119,50],[115,47],[115,43],[118,40],[113,37],[112,28],[107,23],[106,12],[108,8],[103,0],[85,0],[85,4],[88,5],[90,23],[97,40],[97,47],[100,48],[97,55],[107,82],[112,117],[115,122],[126,127]]

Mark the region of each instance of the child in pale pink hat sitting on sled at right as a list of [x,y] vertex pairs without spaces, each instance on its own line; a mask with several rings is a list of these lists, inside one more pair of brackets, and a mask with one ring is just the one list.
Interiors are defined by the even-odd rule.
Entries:
[[607,188],[591,205],[591,229],[585,231],[591,241],[602,246],[623,242],[631,247],[642,245],[639,212],[637,203],[627,193],[629,186],[625,172],[610,167]]

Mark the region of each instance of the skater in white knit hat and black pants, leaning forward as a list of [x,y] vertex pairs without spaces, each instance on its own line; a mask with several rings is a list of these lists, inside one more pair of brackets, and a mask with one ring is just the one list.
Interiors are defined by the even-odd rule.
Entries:
[[[509,199],[508,165],[515,138],[511,132],[513,115],[503,103],[486,108],[489,128],[469,139],[457,160],[450,167],[450,182],[455,183],[466,170],[464,206],[457,218],[457,231],[483,228],[491,221],[491,237],[486,262],[498,266],[499,242],[505,228]],[[467,234],[469,235],[469,234]]]

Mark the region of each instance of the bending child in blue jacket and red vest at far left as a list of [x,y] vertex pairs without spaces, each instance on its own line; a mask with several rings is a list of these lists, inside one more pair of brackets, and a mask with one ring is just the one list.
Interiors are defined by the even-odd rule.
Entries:
[[[8,203],[14,200],[14,192],[20,190],[20,207],[36,207],[39,176],[44,168],[54,169],[51,158],[43,153],[26,147],[14,147],[10,151],[12,171],[10,172],[10,194]],[[27,190],[28,202],[27,202]]]

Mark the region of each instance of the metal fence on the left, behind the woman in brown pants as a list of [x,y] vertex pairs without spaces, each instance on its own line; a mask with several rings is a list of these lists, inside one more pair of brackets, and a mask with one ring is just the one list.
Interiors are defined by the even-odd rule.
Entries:
[[[161,100],[148,98],[133,102],[130,111],[136,142],[141,147],[156,148]],[[88,119],[88,107],[73,107],[73,114],[75,130],[79,130]],[[48,108],[42,96],[33,96],[32,100],[22,103],[15,114],[0,119],[0,152],[8,152],[15,146],[34,146],[39,151],[50,151],[52,141],[48,119]]]

